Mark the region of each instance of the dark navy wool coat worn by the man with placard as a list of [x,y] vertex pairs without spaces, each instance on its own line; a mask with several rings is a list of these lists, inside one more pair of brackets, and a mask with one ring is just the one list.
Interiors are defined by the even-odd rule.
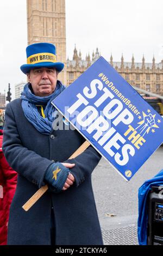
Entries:
[[[62,122],[62,119],[60,120]],[[18,172],[17,189],[10,207],[8,245],[51,245],[51,209],[54,211],[55,245],[103,245],[93,196],[91,173],[101,156],[90,146],[67,160],[85,141],[77,130],[39,133],[24,116],[21,99],[7,105],[3,152]],[[55,162],[75,163],[74,184],[66,191],[49,190],[28,211],[22,205],[43,186],[48,166]]]

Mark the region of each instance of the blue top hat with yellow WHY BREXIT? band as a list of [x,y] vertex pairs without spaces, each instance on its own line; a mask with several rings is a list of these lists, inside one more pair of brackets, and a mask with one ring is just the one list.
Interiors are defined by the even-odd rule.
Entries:
[[64,63],[57,62],[55,55],[55,45],[49,43],[37,43],[28,45],[27,64],[21,66],[24,74],[29,73],[34,68],[56,68],[58,72],[64,68]]

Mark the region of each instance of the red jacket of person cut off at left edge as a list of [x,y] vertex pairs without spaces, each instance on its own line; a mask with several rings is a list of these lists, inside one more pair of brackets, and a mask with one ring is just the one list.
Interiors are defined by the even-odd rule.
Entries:
[[17,173],[4,157],[2,141],[3,130],[0,130],[0,245],[6,245],[9,208],[16,189]]

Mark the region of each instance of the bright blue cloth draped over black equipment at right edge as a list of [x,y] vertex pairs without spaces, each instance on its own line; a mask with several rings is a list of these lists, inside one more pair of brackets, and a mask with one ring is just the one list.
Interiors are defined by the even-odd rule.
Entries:
[[159,186],[163,184],[163,170],[161,170],[157,175],[155,175],[151,180],[146,181],[139,188],[139,217],[138,217],[138,227],[137,235],[139,240],[139,245],[147,245],[147,195],[152,186]]

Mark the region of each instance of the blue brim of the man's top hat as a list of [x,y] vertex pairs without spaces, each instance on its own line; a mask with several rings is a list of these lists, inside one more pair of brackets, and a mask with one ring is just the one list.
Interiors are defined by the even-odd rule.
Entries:
[[56,68],[58,72],[61,72],[62,69],[64,68],[64,63],[62,62],[43,62],[43,63],[36,63],[36,64],[24,64],[20,67],[22,72],[24,74],[27,74],[30,72],[31,69],[35,68]]

